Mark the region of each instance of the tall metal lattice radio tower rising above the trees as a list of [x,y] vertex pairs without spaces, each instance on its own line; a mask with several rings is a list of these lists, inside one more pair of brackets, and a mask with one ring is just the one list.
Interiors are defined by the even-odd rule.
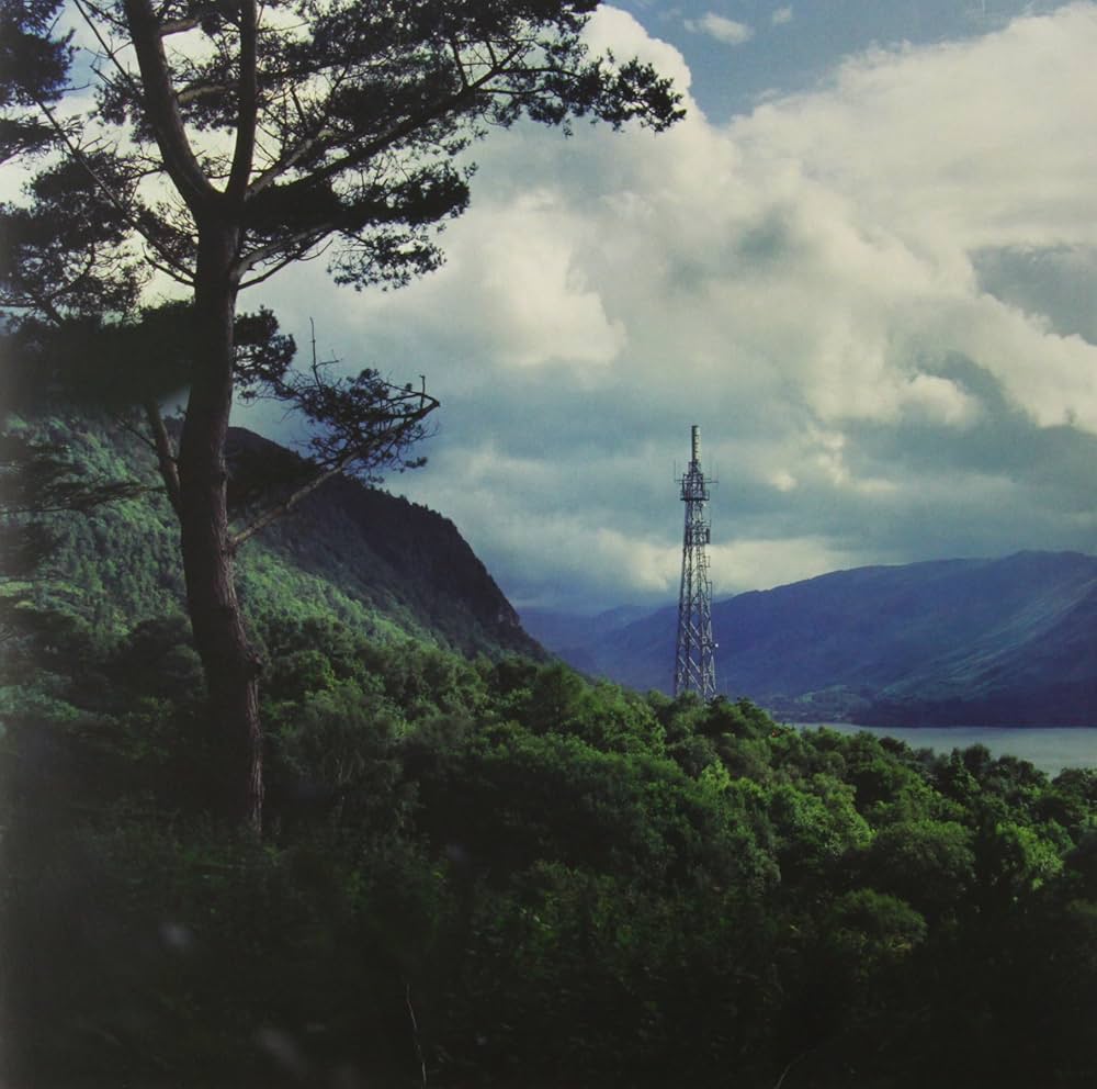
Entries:
[[712,583],[705,546],[712,532],[704,517],[709,482],[701,472],[701,428],[691,431],[693,457],[681,479],[686,504],[682,536],[682,583],[678,595],[678,649],[675,695],[692,688],[704,700],[716,695],[716,644],[712,640]]

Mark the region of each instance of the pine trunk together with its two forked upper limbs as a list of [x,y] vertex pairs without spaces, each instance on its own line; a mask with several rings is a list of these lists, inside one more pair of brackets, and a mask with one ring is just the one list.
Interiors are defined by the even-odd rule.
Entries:
[[[239,290],[239,223],[256,128],[256,3],[241,3],[239,131],[228,191],[218,192],[191,147],[151,0],[123,0],[140,68],[145,112],[165,168],[197,227],[194,268],[199,351],[179,442],[179,523],[194,645],[202,659],[226,815],[262,828],[263,737],[259,658],[233,576],[225,437],[233,406],[233,325]],[[171,483],[169,481],[169,491]]]

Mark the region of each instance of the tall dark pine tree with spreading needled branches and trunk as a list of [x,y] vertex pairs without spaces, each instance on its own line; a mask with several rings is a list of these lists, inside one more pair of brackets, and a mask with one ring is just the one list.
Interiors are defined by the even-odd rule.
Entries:
[[[16,313],[102,321],[132,311],[151,271],[191,301],[189,400],[178,451],[162,450],[182,529],[188,608],[225,739],[229,807],[259,827],[259,662],[236,597],[225,438],[241,377],[241,291],[331,246],[340,283],[400,285],[437,268],[439,224],[470,199],[459,154],[522,117],[590,117],[656,131],[679,115],[669,81],[591,56],[593,0],[71,0],[99,44],[95,104],[58,108],[69,43],[55,0],[5,2],[33,45],[5,88],[4,146],[57,164],[29,204],[3,210],[15,245],[0,268]],[[15,36],[4,34],[8,48]],[[33,126],[34,138],[25,126]],[[14,126],[14,127],[12,127]],[[23,127],[21,127],[23,126]],[[73,194],[77,197],[73,199]],[[22,218],[21,218],[22,217]],[[50,231],[50,225],[53,231]],[[16,229],[18,228],[18,229]],[[330,471],[399,457],[433,406],[366,372],[335,393],[280,359],[260,380],[326,425]],[[281,369],[280,369],[281,368]],[[333,426],[332,426],[333,425]]]

